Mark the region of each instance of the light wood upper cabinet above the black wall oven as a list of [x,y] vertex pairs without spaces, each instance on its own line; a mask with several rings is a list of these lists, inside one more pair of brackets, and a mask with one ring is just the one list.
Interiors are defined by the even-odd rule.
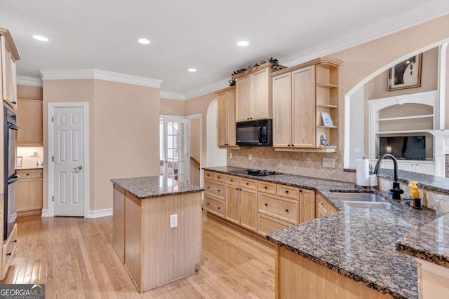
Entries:
[[8,29],[0,28],[0,92],[1,97],[13,109],[17,108],[17,81],[15,74],[15,62],[20,60],[20,55]]

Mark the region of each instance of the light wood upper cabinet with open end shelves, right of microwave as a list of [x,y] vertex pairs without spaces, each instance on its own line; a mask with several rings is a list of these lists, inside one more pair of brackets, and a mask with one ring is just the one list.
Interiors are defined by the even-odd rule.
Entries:
[[[321,58],[272,75],[276,151],[335,151],[340,63]],[[332,124],[323,123],[323,116]],[[323,146],[322,136],[329,146]]]

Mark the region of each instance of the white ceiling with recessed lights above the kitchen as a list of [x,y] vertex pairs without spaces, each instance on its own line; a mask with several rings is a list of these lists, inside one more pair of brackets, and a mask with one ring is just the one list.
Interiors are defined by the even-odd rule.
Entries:
[[0,27],[18,46],[20,76],[102,69],[189,98],[267,57],[290,66],[448,13],[448,0],[0,0]]

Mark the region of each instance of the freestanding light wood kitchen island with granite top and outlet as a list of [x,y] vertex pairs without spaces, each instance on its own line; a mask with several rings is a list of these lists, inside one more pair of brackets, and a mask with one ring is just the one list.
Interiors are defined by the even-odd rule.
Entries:
[[194,274],[202,188],[164,176],[112,179],[112,245],[142,293]]

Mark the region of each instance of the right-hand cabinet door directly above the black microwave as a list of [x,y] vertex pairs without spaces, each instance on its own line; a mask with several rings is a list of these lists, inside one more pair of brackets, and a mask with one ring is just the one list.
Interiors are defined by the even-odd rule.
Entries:
[[251,118],[265,119],[270,117],[271,95],[269,69],[262,69],[250,75],[251,78]]

